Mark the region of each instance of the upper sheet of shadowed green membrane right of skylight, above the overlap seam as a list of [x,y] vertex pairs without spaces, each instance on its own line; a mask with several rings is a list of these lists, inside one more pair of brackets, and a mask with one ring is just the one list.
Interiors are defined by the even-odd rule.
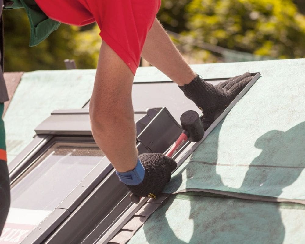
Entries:
[[[231,73],[233,65],[217,67]],[[305,200],[304,59],[245,63],[235,74],[246,66],[262,76],[178,168],[165,192],[212,189]]]

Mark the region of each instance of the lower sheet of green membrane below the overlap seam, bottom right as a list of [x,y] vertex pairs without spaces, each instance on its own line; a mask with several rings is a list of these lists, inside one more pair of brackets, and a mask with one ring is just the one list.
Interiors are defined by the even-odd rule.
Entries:
[[301,244],[305,206],[224,198],[170,195],[128,244]]

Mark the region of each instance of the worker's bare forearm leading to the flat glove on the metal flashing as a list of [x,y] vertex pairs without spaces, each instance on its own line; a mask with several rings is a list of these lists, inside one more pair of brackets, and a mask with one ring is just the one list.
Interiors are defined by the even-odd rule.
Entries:
[[157,19],[147,34],[142,57],[180,86],[196,77]]

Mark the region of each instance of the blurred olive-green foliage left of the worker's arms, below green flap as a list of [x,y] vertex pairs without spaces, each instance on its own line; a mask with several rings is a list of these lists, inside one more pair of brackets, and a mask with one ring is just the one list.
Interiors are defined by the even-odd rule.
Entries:
[[64,59],[80,68],[95,68],[101,44],[96,26],[86,31],[61,24],[45,41],[29,47],[30,25],[24,9],[3,11],[5,71],[65,69]]

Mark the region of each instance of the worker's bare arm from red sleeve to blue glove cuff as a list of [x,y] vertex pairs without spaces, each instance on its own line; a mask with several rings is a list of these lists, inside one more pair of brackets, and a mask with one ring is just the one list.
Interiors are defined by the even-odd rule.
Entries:
[[135,168],[135,122],[131,101],[134,75],[124,61],[102,43],[90,100],[95,142],[119,172]]

